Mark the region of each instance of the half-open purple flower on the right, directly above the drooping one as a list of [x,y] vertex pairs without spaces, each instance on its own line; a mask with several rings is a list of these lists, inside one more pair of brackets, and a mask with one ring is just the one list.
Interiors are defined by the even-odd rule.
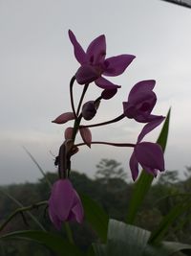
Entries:
[[157,96],[153,92],[156,81],[138,81],[131,89],[127,102],[123,103],[124,115],[133,118],[140,123],[148,123],[158,119],[151,111],[157,102]]

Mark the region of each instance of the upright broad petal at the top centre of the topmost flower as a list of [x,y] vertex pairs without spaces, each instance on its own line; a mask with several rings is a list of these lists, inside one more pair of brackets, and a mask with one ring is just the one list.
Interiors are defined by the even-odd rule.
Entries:
[[106,55],[105,35],[96,37],[89,45],[86,54],[87,59],[93,65],[103,62]]

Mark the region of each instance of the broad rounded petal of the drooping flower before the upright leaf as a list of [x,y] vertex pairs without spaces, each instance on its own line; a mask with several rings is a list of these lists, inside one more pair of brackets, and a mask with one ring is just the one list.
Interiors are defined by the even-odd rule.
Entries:
[[164,171],[163,152],[159,144],[141,142],[135,147],[135,155],[141,166]]

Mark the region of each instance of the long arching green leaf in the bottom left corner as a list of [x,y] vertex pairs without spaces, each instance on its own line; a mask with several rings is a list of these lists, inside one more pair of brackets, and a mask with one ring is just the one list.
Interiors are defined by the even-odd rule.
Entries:
[[74,245],[70,244],[68,241],[64,240],[62,237],[55,235],[50,232],[44,231],[16,231],[9,233],[7,235],[1,236],[0,239],[24,239],[31,240],[40,244],[46,245],[48,248],[52,249],[59,256],[83,256],[84,254],[79,251],[79,249]]

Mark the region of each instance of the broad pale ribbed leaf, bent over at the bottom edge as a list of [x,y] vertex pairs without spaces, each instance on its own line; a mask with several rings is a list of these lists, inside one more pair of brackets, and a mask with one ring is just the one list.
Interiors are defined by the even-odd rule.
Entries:
[[150,232],[124,222],[110,220],[107,244],[94,244],[96,256],[170,256],[189,244],[163,242],[148,244]]

